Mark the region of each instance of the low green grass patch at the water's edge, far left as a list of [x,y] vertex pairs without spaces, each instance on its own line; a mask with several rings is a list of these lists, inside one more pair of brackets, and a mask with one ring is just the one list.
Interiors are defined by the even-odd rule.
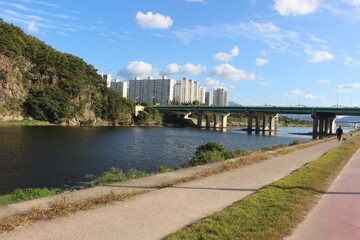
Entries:
[[55,194],[56,190],[49,190],[47,188],[16,189],[12,193],[0,196],[0,206],[49,197]]

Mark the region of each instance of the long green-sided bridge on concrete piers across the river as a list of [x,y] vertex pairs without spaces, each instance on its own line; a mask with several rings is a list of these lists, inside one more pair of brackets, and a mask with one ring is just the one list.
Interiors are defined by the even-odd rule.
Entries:
[[275,131],[278,114],[304,114],[313,118],[313,134],[332,134],[337,115],[360,116],[360,108],[328,107],[224,107],[224,106],[155,106],[160,112],[188,113],[198,115],[198,127],[202,127],[202,118],[206,118],[206,127],[210,128],[210,116],[214,116],[214,128],[227,127],[227,116],[231,113],[244,113],[248,117],[248,130]]

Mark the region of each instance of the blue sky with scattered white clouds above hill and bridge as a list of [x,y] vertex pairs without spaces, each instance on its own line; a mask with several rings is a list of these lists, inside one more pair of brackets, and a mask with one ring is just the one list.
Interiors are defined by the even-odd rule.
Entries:
[[187,77],[242,105],[360,107],[360,0],[0,0],[100,74]]

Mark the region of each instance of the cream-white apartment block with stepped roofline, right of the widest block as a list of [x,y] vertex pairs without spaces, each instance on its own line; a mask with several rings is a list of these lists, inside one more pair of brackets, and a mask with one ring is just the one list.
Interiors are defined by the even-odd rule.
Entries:
[[194,101],[205,103],[205,88],[197,81],[188,78],[177,80],[174,87],[174,102],[193,103]]

